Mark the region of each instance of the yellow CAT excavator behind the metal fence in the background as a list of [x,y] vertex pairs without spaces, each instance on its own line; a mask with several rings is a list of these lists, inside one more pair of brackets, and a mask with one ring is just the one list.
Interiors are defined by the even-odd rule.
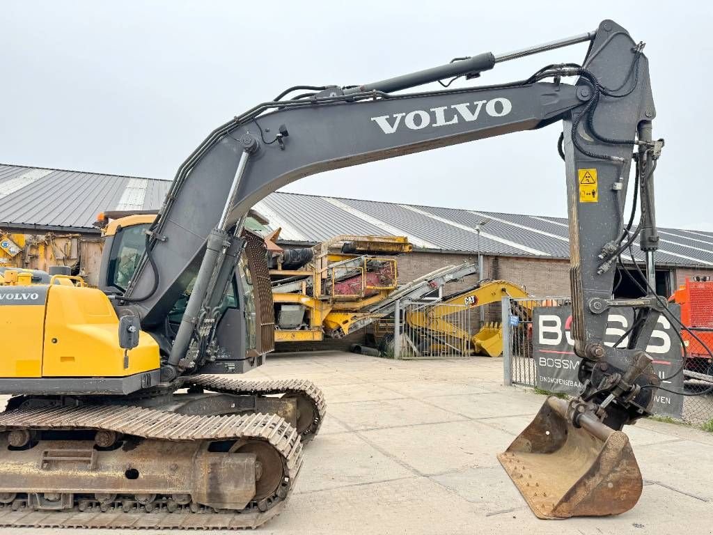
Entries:
[[[419,353],[427,355],[448,352],[450,349],[460,355],[499,357],[503,354],[502,325],[487,322],[471,336],[471,332],[463,328],[464,325],[450,321],[448,316],[500,302],[503,297],[528,297],[528,292],[508,280],[481,280],[467,290],[446,295],[427,306],[408,310],[406,324],[409,325],[409,334],[419,337],[414,347]],[[523,312],[532,308],[527,301],[520,302],[518,306]]]

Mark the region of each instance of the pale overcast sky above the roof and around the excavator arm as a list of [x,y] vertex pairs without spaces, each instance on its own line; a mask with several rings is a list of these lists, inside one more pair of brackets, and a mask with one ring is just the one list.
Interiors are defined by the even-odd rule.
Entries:
[[[298,83],[366,83],[593,30],[646,41],[666,147],[662,226],[713,230],[712,4],[594,1],[4,1],[0,163],[173,178],[215,126]],[[566,6],[566,7],[565,7]],[[498,64],[473,83],[581,62],[580,44]],[[436,86],[438,87],[438,86]],[[515,133],[322,173],[297,193],[566,215],[561,131]]]

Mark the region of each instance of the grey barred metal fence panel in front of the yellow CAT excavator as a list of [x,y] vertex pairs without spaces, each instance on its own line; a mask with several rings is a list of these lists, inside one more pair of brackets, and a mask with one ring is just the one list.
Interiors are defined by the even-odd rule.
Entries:
[[378,320],[373,332],[379,337],[381,355],[386,357],[452,359],[471,355],[477,326],[478,312],[472,307],[409,302],[397,304],[394,316]]

